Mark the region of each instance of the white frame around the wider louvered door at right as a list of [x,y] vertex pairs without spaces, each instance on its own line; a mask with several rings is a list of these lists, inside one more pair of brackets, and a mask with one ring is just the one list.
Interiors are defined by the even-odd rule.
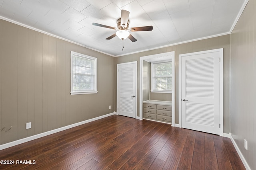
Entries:
[[187,53],[179,55],[179,127],[181,125],[181,57],[189,56],[189,55],[198,55],[204,53],[213,53],[219,52],[220,54],[220,136],[223,136],[223,48],[222,49],[214,49],[207,51],[200,51],[195,53]]

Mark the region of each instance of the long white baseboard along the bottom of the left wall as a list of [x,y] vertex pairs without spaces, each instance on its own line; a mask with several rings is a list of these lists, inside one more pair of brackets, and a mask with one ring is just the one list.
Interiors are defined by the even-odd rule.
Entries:
[[6,148],[9,148],[9,147],[13,147],[15,145],[19,145],[21,143],[25,143],[25,142],[28,142],[28,141],[32,141],[34,139],[38,139],[40,137],[44,137],[44,136],[47,136],[47,135],[51,135],[53,133],[57,133],[57,132],[60,132],[60,131],[64,131],[66,129],[70,129],[72,127],[76,127],[76,126],[79,126],[79,125],[83,125],[85,123],[89,123],[89,122],[92,122],[92,121],[96,121],[98,119],[102,119],[104,117],[108,117],[108,116],[111,116],[111,115],[116,115],[116,112],[113,112],[113,113],[109,113],[109,114],[106,114],[106,115],[102,115],[102,116],[99,116],[99,117],[95,117],[95,118],[92,118],[92,119],[88,119],[88,120],[85,120],[85,121],[81,121],[81,122],[78,122],[78,123],[74,123],[72,125],[68,125],[68,126],[64,126],[64,127],[60,127],[58,129],[54,129],[54,130],[51,130],[51,131],[47,131],[47,132],[44,132],[44,133],[40,133],[40,134],[37,134],[37,135],[33,135],[33,136],[30,136],[30,137],[26,137],[26,138],[23,138],[23,139],[19,139],[17,141],[13,141],[13,142],[10,142],[10,143],[5,143],[3,145],[0,145],[0,150],[2,149],[6,149]]

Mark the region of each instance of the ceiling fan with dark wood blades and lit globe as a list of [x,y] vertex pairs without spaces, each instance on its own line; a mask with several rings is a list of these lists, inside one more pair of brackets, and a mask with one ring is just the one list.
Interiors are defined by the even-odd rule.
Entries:
[[153,30],[153,26],[145,26],[145,27],[133,27],[133,28],[129,28],[129,11],[126,10],[121,10],[121,18],[119,18],[117,20],[117,28],[116,27],[110,27],[108,25],[102,25],[100,23],[92,23],[92,25],[96,25],[99,27],[105,27],[105,28],[110,28],[110,29],[116,29],[118,31],[116,31],[116,33],[114,33],[113,35],[111,35],[110,37],[107,37],[106,39],[112,39],[116,36],[118,36],[120,39],[124,40],[128,37],[128,39],[130,39],[132,42],[137,41],[136,38],[134,38],[129,31],[152,31]]

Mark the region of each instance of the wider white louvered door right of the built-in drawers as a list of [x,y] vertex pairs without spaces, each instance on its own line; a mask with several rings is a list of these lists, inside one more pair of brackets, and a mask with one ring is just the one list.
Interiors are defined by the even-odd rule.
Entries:
[[182,57],[182,127],[220,134],[219,53]]

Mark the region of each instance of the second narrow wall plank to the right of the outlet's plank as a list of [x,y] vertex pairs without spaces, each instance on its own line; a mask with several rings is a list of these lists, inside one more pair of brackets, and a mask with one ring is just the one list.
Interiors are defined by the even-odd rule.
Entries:
[[48,131],[48,35],[43,35],[43,132]]

